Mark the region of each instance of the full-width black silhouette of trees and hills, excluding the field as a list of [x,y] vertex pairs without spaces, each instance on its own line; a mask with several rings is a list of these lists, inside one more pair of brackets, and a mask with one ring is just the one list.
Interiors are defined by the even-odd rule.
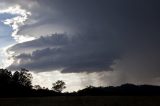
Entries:
[[108,96],[108,95],[158,95],[160,86],[123,84],[113,87],[88,86],[77,92],[63,92],[66,84],[58,80],[52,84],[52,89],[32,85],[32,74],[26,69],[9,71],[0,69],[0,97],[34,97],[34,96]]

